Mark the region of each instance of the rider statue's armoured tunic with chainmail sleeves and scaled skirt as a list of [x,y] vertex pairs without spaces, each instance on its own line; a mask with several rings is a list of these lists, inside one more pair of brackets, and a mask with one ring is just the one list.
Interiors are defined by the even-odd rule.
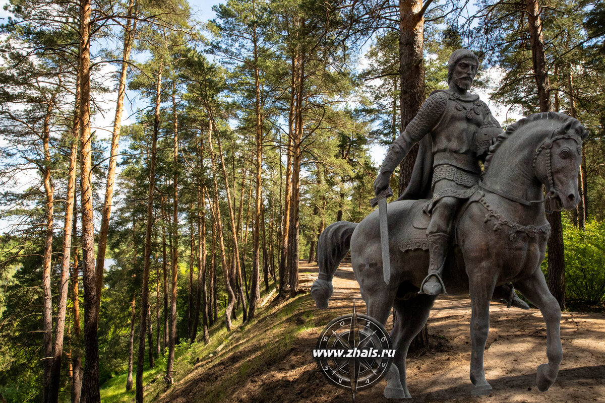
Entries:
[[433,198],[425,211],[444,197],[468,199],[479,182],[480,160],[502,133],[479,95],[449,89],[433,92],[405,131],[391,144],[381,172],[393,172],[414,143],[430,134],[433,143]]

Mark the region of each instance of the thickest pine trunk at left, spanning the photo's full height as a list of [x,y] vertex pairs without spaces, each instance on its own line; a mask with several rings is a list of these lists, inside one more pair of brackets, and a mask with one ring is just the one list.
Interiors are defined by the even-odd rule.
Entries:
[[80,2],[80,141],[82,143],[82,271],[84,285],[84,376],[82,398],[84,403],[100,402],[99,394],[99,303],[94,268],[94,218],[92,184],[92,137],[90,132],[90,0]]

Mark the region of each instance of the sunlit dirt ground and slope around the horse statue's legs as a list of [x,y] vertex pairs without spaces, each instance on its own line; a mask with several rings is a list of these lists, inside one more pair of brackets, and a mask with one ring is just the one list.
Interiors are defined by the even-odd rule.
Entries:
[[[316,279],[316,266],[301,262],[302,288]],[[349,264],[334,280],[326,311],[315,309],[310,294],[274,300],[258,321],[236,333],[227,346],[157,398],[159,402],[351,402],[349,393],[328,384],[316,369],[312,349],[322,327],[365,305]],[[557,382],[538,392],[535,369],[546,362],[545,324],[540,312],[492,304],[485,353],[490,396],[470,395],[468,298],[440,297],[431,312],[430,352],[408,358],[411,402],[605,402],[605,315],[564,312],[564,358]],[[390,328],[387,323],[387,329]],[[387,402],[386,382],[358,393],[356,402]]]

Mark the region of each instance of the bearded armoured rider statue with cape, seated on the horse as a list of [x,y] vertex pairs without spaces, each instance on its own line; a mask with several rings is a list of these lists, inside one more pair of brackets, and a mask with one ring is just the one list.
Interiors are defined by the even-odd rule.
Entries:
[[[441,280],[453,233],[454,219],[479,182],[489,146],[502,133],[479,95],[469,92],[479,60],[466,49],[452,53],[448,62],[448,89],[434,91],[388,149],[374,181],[376,195],[387,189],[390,176],[411,147],[420,148],[410,184],[399,199],[430,199],[425,213],[430,254],[428,276],[420,292],[445,292]],[[429,135],[430,134],[430,135]],[[511,292],[511,298],[513,297]]]

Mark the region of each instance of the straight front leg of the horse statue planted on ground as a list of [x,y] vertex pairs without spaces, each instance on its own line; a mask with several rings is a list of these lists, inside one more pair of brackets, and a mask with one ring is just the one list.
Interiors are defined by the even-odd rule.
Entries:
[[484,262],[475,267],[479,270],[468,272],[472,306],[471,382],[475,385],[472,394],[489,395],[492,387],[485,380],[483,352],[489,334],[489,301],[494,294],[495,276],[491,275],[491,264]]

